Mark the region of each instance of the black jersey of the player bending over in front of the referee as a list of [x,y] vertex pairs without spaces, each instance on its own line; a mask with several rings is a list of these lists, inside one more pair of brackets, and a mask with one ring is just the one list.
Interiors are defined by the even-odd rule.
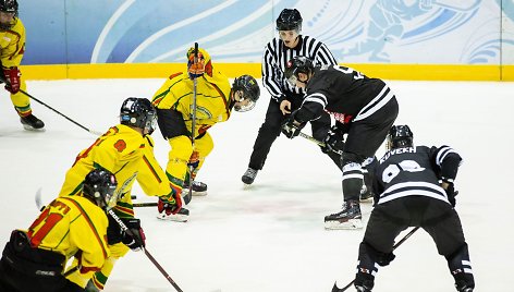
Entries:
[[347,66],[322,65],[314,72],[297,121],[315,120],[325,110],[346,124],[368,118],[394,97],[383,81]]

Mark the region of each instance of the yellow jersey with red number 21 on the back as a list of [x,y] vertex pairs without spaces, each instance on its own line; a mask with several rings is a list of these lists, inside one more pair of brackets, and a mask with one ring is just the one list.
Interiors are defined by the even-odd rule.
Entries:
[[[70,280],[83,285],[109,256],[106,212],[83,196],[59,197],[28,228],[30,245],[75,257],[81,269]],[[63,263],[63,266],[65,263]]]

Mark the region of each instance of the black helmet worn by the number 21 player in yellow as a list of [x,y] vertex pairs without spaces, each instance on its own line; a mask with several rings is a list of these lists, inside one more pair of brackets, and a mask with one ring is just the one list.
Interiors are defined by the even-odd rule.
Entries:
[[114,174],[105,169],[94,169],[87,173],[82,193],[93,199],[98,207],[108,210],[117,205],[118,197],[114,196],[117,186]]

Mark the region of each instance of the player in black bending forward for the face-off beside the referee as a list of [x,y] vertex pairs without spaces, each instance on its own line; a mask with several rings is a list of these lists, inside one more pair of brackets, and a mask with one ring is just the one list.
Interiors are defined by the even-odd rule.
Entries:
[[[308,121],[329,112],[335,119],[333,132],[347,133],[343,147],[343,208],[325,217],[327,229],[363,228],[359,195],[364,167],[386,139],[399,112],[396,97],[379,78],[369,78],[358,71],[340,65],[314,66],[306,57],[295,57],[286,65],[285,77],[306,88],[302,107],[284,125],[290,138],[299,134]],[[332,142],[329,135],[328,147]],[[335,139],[336,141],[336,139]]]

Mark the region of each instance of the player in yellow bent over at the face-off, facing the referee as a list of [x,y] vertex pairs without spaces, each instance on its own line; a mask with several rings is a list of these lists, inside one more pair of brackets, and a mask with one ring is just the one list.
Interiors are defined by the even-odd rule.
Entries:
[[[197,62],[194,60],[194,48],[186,53],[187,74],[172,74],[157,90],[152,105],[157,108],[158,124],[161,134],[168,139],[171,150],[166,168],[173,192],[188,192],[188,166],[194,180],[204,165],[205,158],[213,148],[213,142],[207,130],[219,122],[227,121],[232,112],[247,111],[254,108],[260,89],[257,81],[243,75],[235,78],[232,88],[229,80],[216,71],[210,56],[198,49]],[[196,80],[196,111],[193,111],[194,83]],[[196,117],[195,129],[192,119]],[[194,147],[192,137],[194,133]],[[193,191],[207,193],[207,185],[193,182]],[[195,194],[195,193],[193,193]],[[170,219],[159,205],[160,219]]]

